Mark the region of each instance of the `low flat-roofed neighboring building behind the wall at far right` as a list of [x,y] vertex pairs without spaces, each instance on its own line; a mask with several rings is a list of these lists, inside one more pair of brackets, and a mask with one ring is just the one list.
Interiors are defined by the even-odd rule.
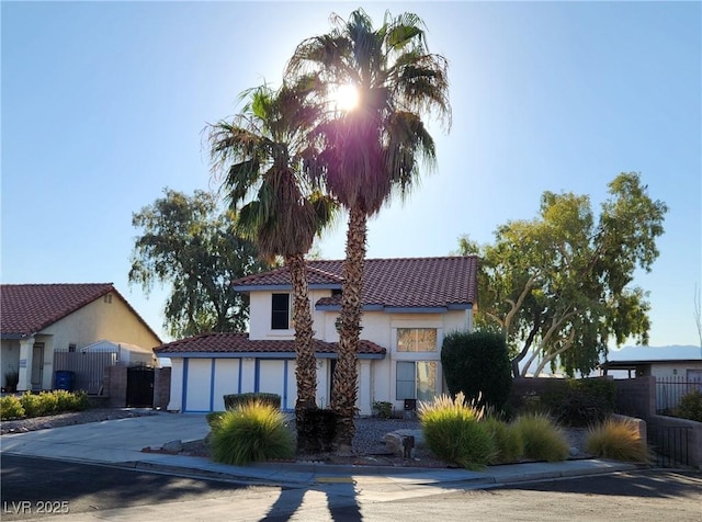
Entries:
[[601,368],[605,374],[625,371],[629,377],[680,377],[702,381],[700,347],[624,347],[610,350]]

